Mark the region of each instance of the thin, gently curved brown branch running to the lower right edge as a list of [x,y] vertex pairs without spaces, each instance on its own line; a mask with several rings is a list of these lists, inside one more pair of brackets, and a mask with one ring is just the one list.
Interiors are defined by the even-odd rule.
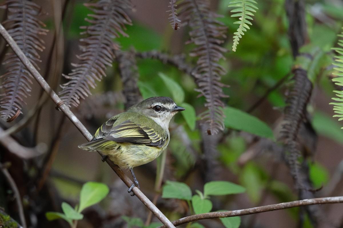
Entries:
[[[283,210],[283,209],[288,209],[288,208],[298,207],[298,206],[327,204],[327,203],[343,203],[343,196],[296,200],[296,201],[291,201],[291,202],[258,206],[258,207],[252,207],[248,209],[235,210],[235,211],[209,212],[209,213],[191,215],[188,217],[180,218],[178,220],[175,220],[173,224],[175,226],[179,226],[182,224],[186,224],[186,223],[190,223],[190,222],[194,222],[198,220],[203,220],[203,219],[235,217],[235,216],[250,215],[250,214],[267,212],[267,211]],[[165,226],[160,226],[158,228],[164,228],[164,227]]]

